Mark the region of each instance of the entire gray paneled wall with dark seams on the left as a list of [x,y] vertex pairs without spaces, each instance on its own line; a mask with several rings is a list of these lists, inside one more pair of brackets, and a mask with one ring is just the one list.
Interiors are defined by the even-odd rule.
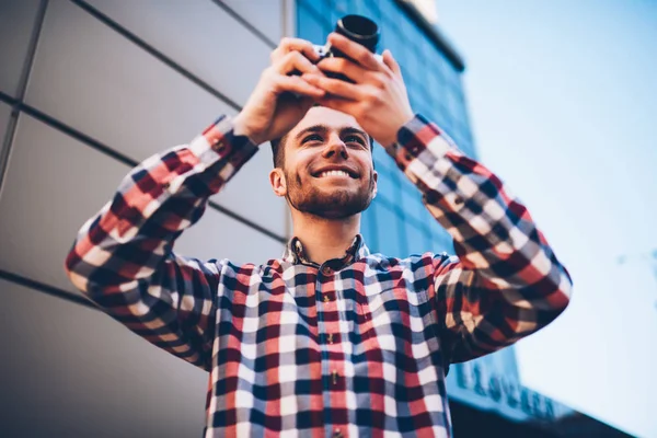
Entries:
[[[32,60],[26,106],[10,131],[11,99],[0,101],[0,138],[12,139],[0,187],[5,435],[201,433],[208,374],[76,296],[62,299],[78,293],[64,262],[129,162],[186,143],[239,111],[269,62],[268,38],[281,33],[283,0],[266,3],[235,2],[231,12],[231,2],[210,0],[0,2],[2,93],[21,96]],[[286,206],[270,191],[272,154],[263,149],[212,198],[235,217],[207,208],[176,253],[235,263],[280,256],[281,242],[247,223],[286,234]]]

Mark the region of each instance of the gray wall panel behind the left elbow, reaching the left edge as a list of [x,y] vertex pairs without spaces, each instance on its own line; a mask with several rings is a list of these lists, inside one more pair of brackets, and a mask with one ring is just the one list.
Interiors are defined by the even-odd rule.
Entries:
[[[114,194],[129,168],[30,116],[21,116],[0,198],[0,268],[76,291],[64,261],[78,229]],[[175,251],[263,263],[283,245],[211,208]]]

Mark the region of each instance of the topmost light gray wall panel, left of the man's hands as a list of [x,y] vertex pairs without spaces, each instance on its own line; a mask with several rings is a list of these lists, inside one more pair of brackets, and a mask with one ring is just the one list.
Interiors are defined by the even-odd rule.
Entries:
[[[211,0],[89,3],[240,105],[269,62],[272,49]],[[280,22],[270,3],[257,20]]]

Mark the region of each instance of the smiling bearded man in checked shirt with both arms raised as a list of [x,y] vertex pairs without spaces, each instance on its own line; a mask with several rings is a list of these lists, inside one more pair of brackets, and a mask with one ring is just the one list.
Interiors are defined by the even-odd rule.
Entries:
[[[330,43],[351,60],[315,66],[310,43],[284,39],[243,111],[130,172],[66,262],[107,313],[210,372],[208,437],[450,436],[449,364],[512,344],[568,303],[570,277],[525,206],[414,115],[390,51],[380,61],[339,35]],[[377,192],[368,135],[457,255],[369,253],[359,234]],[[293,220],[283,258],[239,266],[173,252],[270,140],[272,187]]]

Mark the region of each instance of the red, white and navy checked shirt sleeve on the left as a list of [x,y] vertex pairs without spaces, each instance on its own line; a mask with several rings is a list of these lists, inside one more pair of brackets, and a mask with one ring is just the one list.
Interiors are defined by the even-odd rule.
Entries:
[[173,244],[256,150],[222,116],[191,143],[146,159],[78,232],[70,280],[136,334],[209,370],[222,266]]

